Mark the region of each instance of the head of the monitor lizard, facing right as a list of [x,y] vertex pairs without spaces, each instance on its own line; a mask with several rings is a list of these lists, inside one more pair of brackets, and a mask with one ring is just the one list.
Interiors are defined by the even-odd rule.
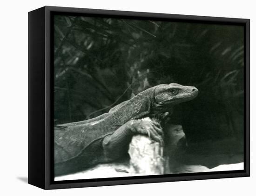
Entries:
[[198,95],[193,86],[182,86],[176,83],[160,84],[155,88],[155,109],[165,110],[176,104],[190,101]]

